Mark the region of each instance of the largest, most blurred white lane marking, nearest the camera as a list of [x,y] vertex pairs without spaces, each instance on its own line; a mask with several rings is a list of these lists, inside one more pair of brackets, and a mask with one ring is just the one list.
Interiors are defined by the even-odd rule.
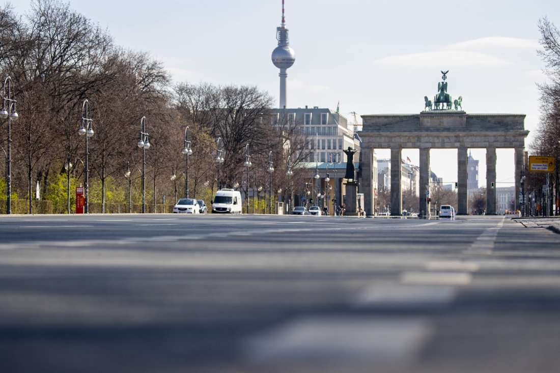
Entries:
[[288,321],[246,339],[251,363],[400,366],[413,360],[431,335],[421,318],[317,316]]

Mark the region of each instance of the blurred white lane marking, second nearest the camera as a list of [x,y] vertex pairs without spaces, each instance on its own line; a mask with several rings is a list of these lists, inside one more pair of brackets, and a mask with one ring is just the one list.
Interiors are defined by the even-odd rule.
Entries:
[[359,309],[410,309],[437,307],[455,299],[454,286],[375,284],[366,287],[352,302]]

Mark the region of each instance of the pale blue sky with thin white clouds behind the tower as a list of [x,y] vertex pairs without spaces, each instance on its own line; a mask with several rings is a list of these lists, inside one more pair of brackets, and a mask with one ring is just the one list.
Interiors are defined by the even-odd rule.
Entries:
[[[11,1],[18,13],[28,0]],[[136,2],[71,0],[107,27],[115,43],[161,59],[176,81],[256,85],[278,97],[270,61],[281,0]],[[441,70],[467,113],[526,114],[538,124],[537,82],[545,80],[537,22],[560,26],[558,1],[286,0],[296,62],[288,106],[363,114],[419,113],[437,92]],[[530,142],[528,139],[526,145]],[[377,151],[389,157],[388,151]],[[418,164],[418,151],[403,152]],[[498,151],[498,186],[513,179],[513,152]],[[484,150],[473,150],[485,185]],[[456,151],[432,151],[432,170],[456,181]]]

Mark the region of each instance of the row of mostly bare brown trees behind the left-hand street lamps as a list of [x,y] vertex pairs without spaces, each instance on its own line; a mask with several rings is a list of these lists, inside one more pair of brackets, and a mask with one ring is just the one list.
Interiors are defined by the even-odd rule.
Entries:
[[[277,169],[273,190],[290,190],[288,157],[296,166],[291,177],[296,185],[309,176],[297,169],[306,156],[298,124],[276,114],[267,92],[245,86],[172,85],[161,62],[149,53],[115,45],[108,31],[59,0],[34,0],[25,15],[17,15],[9,4],[0,10],[0,71],[12,78],[20,115],[12,126],[14,198],[34,198],[39,181],[41,197],[53,200],[56,211],[66,209],[60,189],[66,190],[67,183],[73,188],[84,171],[84,138],[77,130],[85,99],[95,130],[89,139],[90,202],[101,202],[103,209],[107,202],[127,203],[127,164],[134,203],[140,201],[135,171],[142,168],[136,145],[142,116],[152,145],[146,162],[148,200],[153,204],[162,194],[173,195],[184,178],[186,126],[193,150],[190,197],[208,199],[217,186],[218,137],[225,157],[223,187],[240,184],[248,190],[256,184],[266,189],[269,151]],[[6,131],[2,125],[2,139]],[[249,185],[243,173],[246,144],[253,164]],[[6,142],[0,146],[5,152]],[[184,188],[178,189],[183,197]]]

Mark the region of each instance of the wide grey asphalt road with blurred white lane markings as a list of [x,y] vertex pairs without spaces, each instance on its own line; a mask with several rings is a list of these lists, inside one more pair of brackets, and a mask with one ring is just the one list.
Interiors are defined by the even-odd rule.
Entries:
[[0,372],[558,372],[559,351],[560,234],[503,217],[0,217]]

